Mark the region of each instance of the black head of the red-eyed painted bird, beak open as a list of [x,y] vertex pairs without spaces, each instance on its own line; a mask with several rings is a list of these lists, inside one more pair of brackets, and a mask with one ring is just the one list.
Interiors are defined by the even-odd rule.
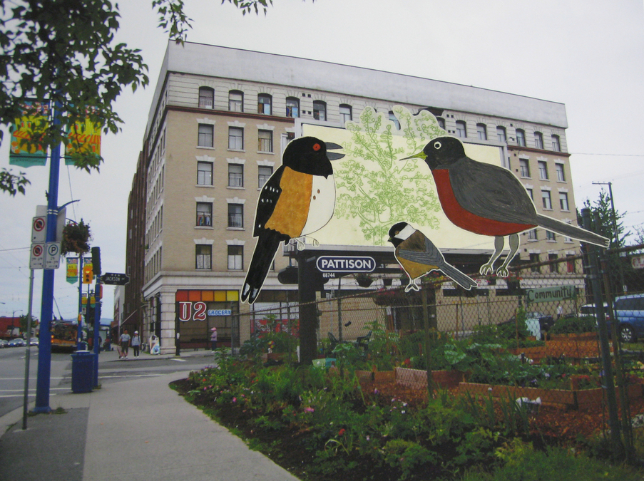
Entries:
[[329,150],[341,148],[341,145],[324,143],[315,137],[297,138],[286,146],[282,164],[303,174],[328,177],[333,174],[330,161],[344,157],[344,154],[329,152]]

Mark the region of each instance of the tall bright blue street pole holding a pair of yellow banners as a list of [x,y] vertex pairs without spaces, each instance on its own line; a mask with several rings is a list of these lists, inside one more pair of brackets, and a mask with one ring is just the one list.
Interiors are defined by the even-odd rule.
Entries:
[[[58,105],[53,108],[53,125],[60,125]],[[61,165],[61,146],[51,148],[49,163],[49,190],[47,192],[47,234],[45,242],[56,242],[58,219],[58,177]],[[40,312],[38,348],[38,381],[36,382],[36,407],[34,413],[49,413],[49,386],[51,378],[51,315],[53,314],[54,269],[43,272],[43,291]]]

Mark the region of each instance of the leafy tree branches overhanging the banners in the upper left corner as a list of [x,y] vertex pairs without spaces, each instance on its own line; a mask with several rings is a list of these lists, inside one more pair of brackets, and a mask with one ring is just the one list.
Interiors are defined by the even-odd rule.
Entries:
[[[66,131],[86,118],[116,133],[122,120],[112,109],[114,100],[123,88],[148,85],[148,76],[139,51],[114,41],[119,14],[111,1],[2,2],[1,8],[0,124],[22,117],[29,97],[55,103],[59,123],[44,125],[31,143],[25,140],[27,145],[68,143]],[[90,152],[75,160],[88,171],[102,161]],[[11,185],[17,180],[18,190],[24,187],[20,179],[5,175],[3,180]],[[5,182],[2,190],[16,188],[7,189]]]

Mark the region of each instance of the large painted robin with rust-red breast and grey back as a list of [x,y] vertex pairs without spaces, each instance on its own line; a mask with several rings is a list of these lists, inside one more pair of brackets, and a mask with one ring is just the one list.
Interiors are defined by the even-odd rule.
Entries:
[[451,222],[469,232],[494,237],[494,254],[481,266],[481,274],[494,272],[504,236],[508,236],[510,252],[496,270],[499,276],[507,277],[508,264],[518,251],[518,234],[535,227],[608,247],[605,237],[538,214],[526,188],[512,172],[471,159],[455,137],[435,138],[422,152],[402,160],[411,158],[423,159],[431,169],[441,207]]

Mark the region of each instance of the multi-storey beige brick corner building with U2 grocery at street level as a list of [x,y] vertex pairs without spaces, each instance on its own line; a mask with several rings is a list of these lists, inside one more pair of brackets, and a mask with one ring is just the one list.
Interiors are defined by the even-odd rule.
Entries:
[[[302,58],[168,43],[137,172],[143,182],[133,183],[130,197],[128,232],[145,234],[128,239],[126,269],[134,272],[136,264],[143,274],[139,284],[131,283],[140,291],[126,286],[123,319],[140,309],[138,326],[144,338],[160,337],[162,353],[175,351],[177,339],[181,348],[204,347],[215,326],[223,344],[247,336],[233,321],[240,309],[249,309],[240,308],[238,291],[255,247],[257,198],[281,165],[285,145],[298,135],[300,122],[342,128],[367,106],[389,113],[394,105],[429,110],[464,142],[500,147],[504,167],[531,192],[538,212],[576,223],[561,103]],[[135,209],[137,202],[145,208]],[[143,254],[134,254],[130,245],[139,243]],[[577,253],[578,242],[543,229],[521,235],[523,261]],[[278,252],[252,309],[285,301],[286,291],[289,301],[297,299],[296,286],[277,280],[287,265]]]

